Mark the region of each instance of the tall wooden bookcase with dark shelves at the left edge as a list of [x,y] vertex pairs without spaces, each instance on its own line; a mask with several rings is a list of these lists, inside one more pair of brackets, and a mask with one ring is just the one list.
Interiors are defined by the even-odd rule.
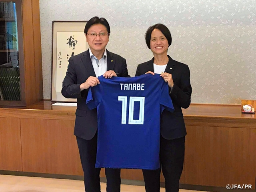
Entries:
[[39,0],[0,0],[0,106],[42,99]]

